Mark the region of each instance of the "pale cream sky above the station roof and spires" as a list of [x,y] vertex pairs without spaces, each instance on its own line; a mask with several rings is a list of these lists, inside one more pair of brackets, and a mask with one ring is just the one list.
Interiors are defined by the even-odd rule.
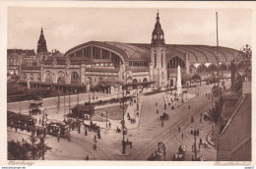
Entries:
[[48,51],[91,40],[150,43],[158,10],[166,44],[216,45],[216,12],[220,46],[251,44],[252,13],[244,9],[10,7],[7,45],[36,51],[41,27]]

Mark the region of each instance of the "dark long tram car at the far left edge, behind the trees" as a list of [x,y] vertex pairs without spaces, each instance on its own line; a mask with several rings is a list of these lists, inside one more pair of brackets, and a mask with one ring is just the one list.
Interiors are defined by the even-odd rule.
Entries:
[[35,124],[31,115],[7,111],[7,125],[22,130],[31,130]]

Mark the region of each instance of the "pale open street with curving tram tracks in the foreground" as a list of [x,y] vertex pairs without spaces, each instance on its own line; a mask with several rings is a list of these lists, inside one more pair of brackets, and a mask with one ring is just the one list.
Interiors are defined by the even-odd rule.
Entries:
[[[125,141],[127,139],[132,141],[132,148],[127,146],[126,155],[121,155],[122,134],[116,133],[115,127],[101,129],[101,139],[96,141],[96,150],[94,149],[96,134],[88,132],[88,136],[85,136],[85,129],[82,127],[81,134],[78,131],[71,132],[71,141],[61,139],[58,142],[56,137],[47,136],[45,142],[52,149],[45,154],[45,159],[76,160],[85,159],[88,155],[90,159],[95,160],[147,160],[153,152],[158,150],[158,142],[161,141],[165,145],[166,160],[171,160],[172,155],[178,152],[179,145],[185,145],[186,147],[184,160],[191,160],[192,155],[194,155],[194,152],[192,152],[194,136],[190,134],[191,127],[200,131],[200,135],[197,137],[197,146],[200,139],[207,142],[207,136],[212,128],[209,122],[203,120],[200,123],[200,114],[212,105],[212,101],[206,98],[206,93],[209,93],[210,89],[206,84],[202,84],[199,89],[198,87],[190,88],[188,92],[194,94],[195,97],[186,100],[184,96],[184,103],[180,101],[173,110],[170,107],[164,110],[165,92],[141,95],[142,108],[139,124],[137,127],[128,130],[128,134],[125,136]],[[156,106],[156,102],[158,102],[158,106]],[[188,108],[189,105],[190,109]],[[64,108],[59,109],[58,114],[54,108],[46,108],[46,110],[51,119],[63,120]],[[157,114],[157,110],[159,110],[159,114]],[[163,127],[161,127],[160,115],[163,112],[166,112],[169,118],[163,120]],[[191,123],[191,116],[194,118],[194,123]],[[180,133],[178,127],[181,129]],[[181,138],[182,133],[183,139]],[[20,130],[16,133],[14,129],[11,131],[8,128],[9,141],[29,139],[29,134]],[[216,160],[215,154],[216,149],[213,146],[210,146],[210,148],[201,147],[200,152],[198,152],[198,155],[202,155],[205,160],[212,161]]]

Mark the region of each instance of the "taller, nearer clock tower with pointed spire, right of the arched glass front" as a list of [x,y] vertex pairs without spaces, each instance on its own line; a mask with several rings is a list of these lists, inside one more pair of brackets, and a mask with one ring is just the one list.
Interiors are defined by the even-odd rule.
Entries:
[[151,42],[151,79],[154,87],[167,85],[167,70],[165,59],[164,33],[160,27],[160,15],[157,13],[157,22],[152,32]]

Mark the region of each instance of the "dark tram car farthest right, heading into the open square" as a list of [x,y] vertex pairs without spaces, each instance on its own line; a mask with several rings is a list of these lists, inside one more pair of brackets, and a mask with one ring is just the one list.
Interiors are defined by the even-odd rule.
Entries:
[[51,121],[46,128],[47,134],[52,136],[58,136],[58,133],[60,133],[60,137],[67,138],[70,133],[69,125],[65,125],[62,122]]

